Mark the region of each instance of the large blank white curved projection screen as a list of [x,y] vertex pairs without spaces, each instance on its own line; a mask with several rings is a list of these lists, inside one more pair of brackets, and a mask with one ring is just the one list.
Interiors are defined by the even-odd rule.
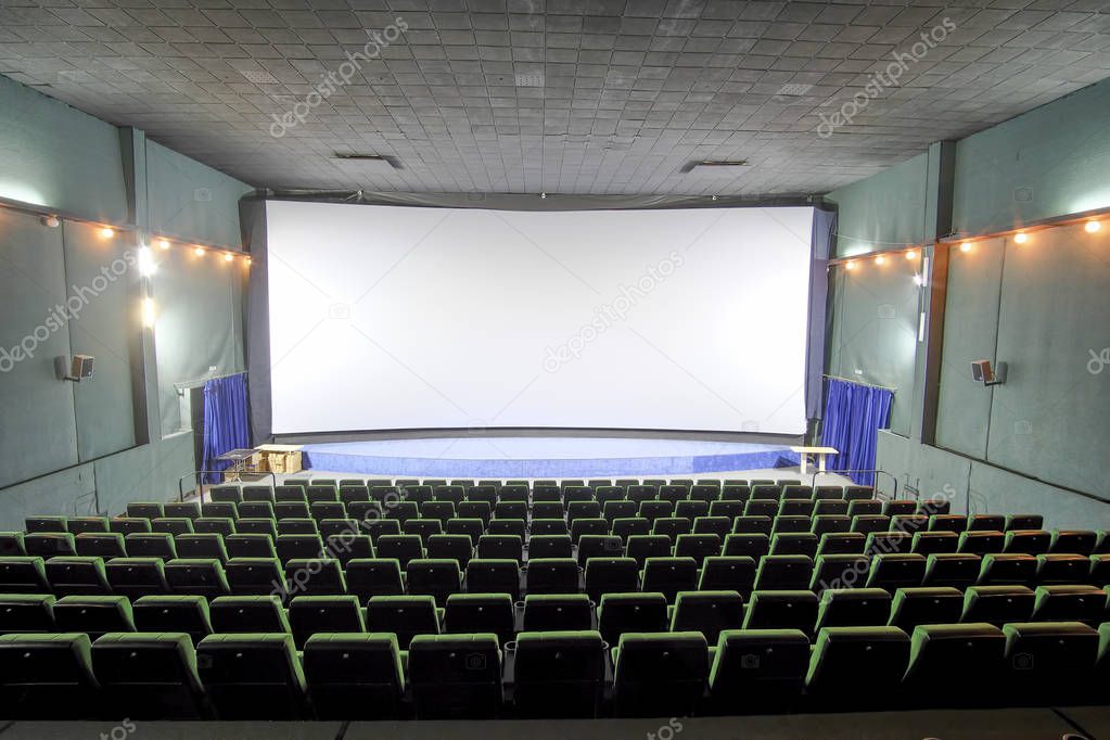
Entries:
[[810,207],[270,201],[273,432],[806,429]]

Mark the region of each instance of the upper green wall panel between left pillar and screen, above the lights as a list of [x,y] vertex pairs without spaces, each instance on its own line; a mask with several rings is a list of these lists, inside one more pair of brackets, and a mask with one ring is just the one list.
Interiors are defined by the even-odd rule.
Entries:
[[147,197],[152,234],[239,249],[239,199],[254,189],[147,141]]

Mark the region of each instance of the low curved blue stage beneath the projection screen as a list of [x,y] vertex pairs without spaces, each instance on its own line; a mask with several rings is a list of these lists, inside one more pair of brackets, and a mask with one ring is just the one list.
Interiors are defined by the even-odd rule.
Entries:
[[713,474],[798,466],[787,445],[633,437],[436,437],[303,447],[329,473],[454,478]]

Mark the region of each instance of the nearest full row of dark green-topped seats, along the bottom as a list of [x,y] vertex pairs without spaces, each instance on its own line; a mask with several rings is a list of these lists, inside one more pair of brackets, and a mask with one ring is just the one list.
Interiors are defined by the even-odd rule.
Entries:
[[[1107,699],[1110,624],[630,632],[0,636],[13,719],[687,717]],[[942,687],[944,690],[938,690]]]

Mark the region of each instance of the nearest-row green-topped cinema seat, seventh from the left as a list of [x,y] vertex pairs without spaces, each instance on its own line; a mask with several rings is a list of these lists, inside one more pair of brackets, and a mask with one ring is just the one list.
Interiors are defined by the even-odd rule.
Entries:
[[697,631],[626,632],[613,650],[616,717],[690,717],[709,676],[709,650]]

